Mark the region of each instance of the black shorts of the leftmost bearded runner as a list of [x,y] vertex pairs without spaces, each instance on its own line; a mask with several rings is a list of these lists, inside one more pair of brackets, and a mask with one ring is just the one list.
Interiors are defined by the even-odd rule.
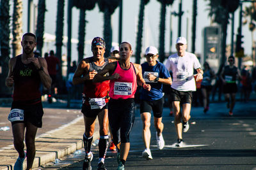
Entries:
[[24,110],[24,120],[12,122],[12,125],[16,123],[26,124],[26,122],[30,122],[36,127],[42,127],[42,117],[44,115],[44,110],[41,102],[28,105],[26,101],[13,101],[11,110],[13,109]]

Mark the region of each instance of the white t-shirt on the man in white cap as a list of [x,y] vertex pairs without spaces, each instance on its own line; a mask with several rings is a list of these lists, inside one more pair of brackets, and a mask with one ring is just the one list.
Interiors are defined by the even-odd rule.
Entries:
[[168,57],[165,64],[168,71],[172,70],[172,88],[179,91],[195,91],[196,83],[193,76],[194,69],[201,67],[199,60],[193,53],[185,52],[183,57],[177,53]]

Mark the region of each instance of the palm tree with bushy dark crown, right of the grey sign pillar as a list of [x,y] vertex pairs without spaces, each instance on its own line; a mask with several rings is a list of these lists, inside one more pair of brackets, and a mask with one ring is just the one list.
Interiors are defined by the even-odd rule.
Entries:
[[211,11],[209,15],[214,17],[214,22],[221,25],[221,63],[220,66],[225,65],[226,61],[226,40],[227,40],[227,26],[229,14],[237,10],[239,0],[208,0]]

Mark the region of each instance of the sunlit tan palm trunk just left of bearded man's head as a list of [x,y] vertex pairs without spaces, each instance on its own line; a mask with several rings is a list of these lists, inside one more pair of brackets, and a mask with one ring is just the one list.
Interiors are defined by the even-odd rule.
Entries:
[[15,57],[21,52],[20,39],[22,37],[22,0],[13,1],[12,36],[12,55]]

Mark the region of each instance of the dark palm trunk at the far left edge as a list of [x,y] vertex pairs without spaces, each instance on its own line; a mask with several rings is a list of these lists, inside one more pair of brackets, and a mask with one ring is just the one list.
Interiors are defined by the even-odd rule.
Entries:
[[8,96],[12,94],[10,89],[5,86],[5,78],[8,74],[8,61],[10,60],[10,2],[1,0],[0,3],[0,66],[2,73],[0,74],[0,96]]

